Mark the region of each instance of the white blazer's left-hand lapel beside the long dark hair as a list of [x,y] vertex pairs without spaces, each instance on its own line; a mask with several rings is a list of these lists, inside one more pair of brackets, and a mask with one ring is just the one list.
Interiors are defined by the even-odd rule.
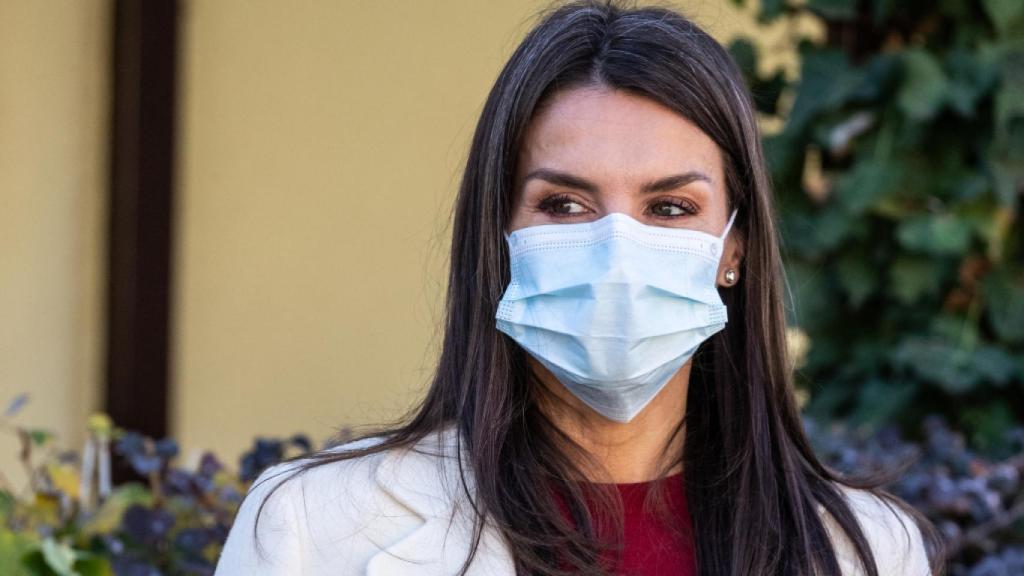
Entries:
[[[458,429],[450,426],[410,450],[385,453],[376,469],[381,490],[423,519],[424,523],[375,554],[367,576],[452,576],[469,556],[473,510],[459,472]],[[468,469],[468,467],[467,467]],[[472,478],[466,483],[472,493]],[[501,534],[485,524],[467,576],[515,574]]]

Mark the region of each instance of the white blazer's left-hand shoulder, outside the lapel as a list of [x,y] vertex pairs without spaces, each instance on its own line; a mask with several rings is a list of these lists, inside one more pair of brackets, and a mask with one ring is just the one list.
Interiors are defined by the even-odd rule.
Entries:
[[[382,440],[362,439],[321,453],[349,452]],[[239,507],[215,576],[354,573],[395,534],[422,523],[380,490],[376,472],[387,454],[301,469],[312,460],[306,456],[264,469]]]

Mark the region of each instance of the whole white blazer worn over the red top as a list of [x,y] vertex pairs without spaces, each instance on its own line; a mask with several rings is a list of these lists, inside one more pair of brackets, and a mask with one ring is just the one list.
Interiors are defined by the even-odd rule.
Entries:
[[[452,426],[413,450],[332,462],[286,482],[264,506],[257,549],[253,524],[259,503],[297,462],[267,468],[239,509],[214,576],[457,574],[469,553],[473,518],[459,478],[456,434]],[[376,442],[367,439],[331,450]],[[472,479],[467,483],[472,490]],[[844,490],[874,552],[879,574],[931,574],[921,532],[908,516],[898,508],[894,512],[866,492]],[[818,510],[836,542],[844,576],[862,575],[839,526],[820,505]],[[485,525],[468,574],[513,576],[513,566],[500,532]]]

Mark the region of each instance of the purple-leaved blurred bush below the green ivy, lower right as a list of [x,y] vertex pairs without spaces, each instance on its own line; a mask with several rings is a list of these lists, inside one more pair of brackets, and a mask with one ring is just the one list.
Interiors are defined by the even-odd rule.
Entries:
[[872,433],[847,423],[806,418],[815,452],[846,474],[900,470],[887,489],[923,512],[947,546],[949,576],[1024,574],[1024,427],[1000,440],[1014,454],[991,460],[970,450],[938,416],[908,442],[895,426]]

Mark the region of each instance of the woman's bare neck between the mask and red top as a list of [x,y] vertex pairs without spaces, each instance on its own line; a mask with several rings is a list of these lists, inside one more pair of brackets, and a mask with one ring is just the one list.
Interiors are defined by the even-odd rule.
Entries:
[[615,422],[592,410],[540,363],[530,359],[541,379],[541,410],[590,456],[578,462],[588,482],[648,482],[682,471],[690,363],[679,369],[662,392],[629,422]]

